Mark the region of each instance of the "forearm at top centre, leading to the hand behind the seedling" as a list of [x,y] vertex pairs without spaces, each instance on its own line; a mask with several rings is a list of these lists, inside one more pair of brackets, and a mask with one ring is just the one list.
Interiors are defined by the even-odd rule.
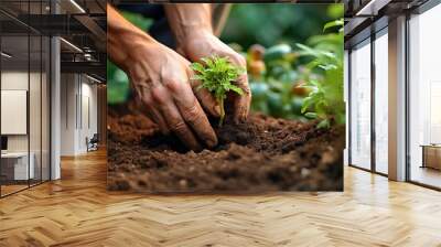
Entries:
[[213,33],[209,3],[165,4],[164,9],[178,46],[192,39],[195,33]]

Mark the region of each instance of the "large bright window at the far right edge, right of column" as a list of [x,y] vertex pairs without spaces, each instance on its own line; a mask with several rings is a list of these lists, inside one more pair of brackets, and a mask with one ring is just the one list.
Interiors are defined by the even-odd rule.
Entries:
[[441,187],[441,6],[412,17],[410,28],[410,180]]

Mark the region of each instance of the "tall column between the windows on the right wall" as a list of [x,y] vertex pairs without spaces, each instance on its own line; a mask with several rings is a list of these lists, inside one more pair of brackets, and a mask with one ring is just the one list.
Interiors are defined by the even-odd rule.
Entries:
[[406,18],[389,21],[389,179],[406,180]]

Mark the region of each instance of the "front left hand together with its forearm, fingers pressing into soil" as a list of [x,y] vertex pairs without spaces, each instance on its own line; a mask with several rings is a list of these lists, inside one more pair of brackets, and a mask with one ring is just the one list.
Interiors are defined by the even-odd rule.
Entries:
[[220,108],[207,90],[193,94],[190,62],[154,41],[107,4],[107,45],[110,60],[129,76],[138,98],[161,131],[170,131],[193,150],[198,140],[208,147],[217,144],[216,135],[196,97],[214,116]]

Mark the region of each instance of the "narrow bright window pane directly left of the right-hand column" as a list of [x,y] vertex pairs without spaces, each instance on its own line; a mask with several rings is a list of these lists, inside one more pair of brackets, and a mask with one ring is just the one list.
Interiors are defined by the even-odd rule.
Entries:
[[388,39],[375,40],[375,169],[387,174],[388,155]]

